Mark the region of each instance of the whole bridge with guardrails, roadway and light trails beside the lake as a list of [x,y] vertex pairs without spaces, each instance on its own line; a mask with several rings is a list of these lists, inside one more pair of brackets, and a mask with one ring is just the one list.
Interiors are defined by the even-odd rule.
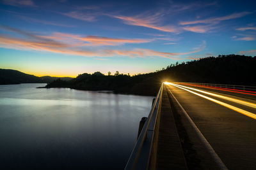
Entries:
[[256,87],[164,82],[125,169],[255,169],[255,114]]

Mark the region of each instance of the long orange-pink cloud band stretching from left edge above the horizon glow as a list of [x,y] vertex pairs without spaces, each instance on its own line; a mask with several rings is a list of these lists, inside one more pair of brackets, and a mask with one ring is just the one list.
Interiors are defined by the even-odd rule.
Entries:
[[81,48],[74,48],[74,46],[65,45],[61,43],[49,43],[49,41],[28,41],[20,38],[10,38],[0,36],[0,46],[3,48],[12,48],[17,50],[36,50],[42,52],[63,53],[68,55],[81,55],[84,57],[164,57],[170,59],[179,59],[179,55],[186,55],[189,53],[200,52],[204,46],[186,53],[170,53],[170,52],[157,52],[154,50],[136,48],[134,50],[83,50]]

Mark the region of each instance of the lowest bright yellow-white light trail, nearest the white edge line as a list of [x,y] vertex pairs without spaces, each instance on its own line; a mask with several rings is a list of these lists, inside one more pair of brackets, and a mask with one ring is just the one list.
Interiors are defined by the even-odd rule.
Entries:
[[241,114],[243,114],[243,115],[246,115],[247,117],[256,119],[256,115],[253,114],[253,113],[251,113],[251,112],[249,112],[249,111],[242,110],[242,109],[240,109],[240,108],[237,108],[236,106],[232,106],[232,105],[230,105],[230,104],[223,103],[223,102],[218,101],[218,100],[216,100],[216,99],[212,99],[211,97],[207,97],[207,96],[204,96],[204,95],[202,95],[202,94],[198,94],[198,93],[196,93],[196,92],[193,92],[193,91],[191,91],[191,90],[185,89],[185,88],[183,88],[183,87],[179,87],[178,85],[175,85],[175,84],[173,84],[173,83],[168,83],[168,82],[164,82],[164,83],[165,83],[166,85],[173,85],[174,87],[178,87],[179,89],[186,90],[186,91],[188,91],[188,92],[191,92],[192,94],[195,94],[195,95],[197,95],[197,96],[203,97],[203,98],[205,98],[205,99],[207,99],[207,100],[209,100],[209,101],[212,101],[212,102],[214,102],[214,103],[218,103],[218,104],[220,104],[220,105],[222,105],[222,106],[225,106],[225,107],[227,107],[227,108],[230,108],[231,110],[237,111],[237,112],[239,112],[239,113],[241,113]]

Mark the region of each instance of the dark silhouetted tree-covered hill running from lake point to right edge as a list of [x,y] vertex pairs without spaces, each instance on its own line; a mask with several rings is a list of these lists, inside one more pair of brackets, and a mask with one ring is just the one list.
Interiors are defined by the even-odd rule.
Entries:
[[163,81],[256,85],[256,57],[220,55],[200,60],[170,64],[154,73],[128,76],[105,76],[96,72],[80,74],[70,81],[56,80],[46,87],[69,87],[80,90],[113,90],[116,93],[156,96]]

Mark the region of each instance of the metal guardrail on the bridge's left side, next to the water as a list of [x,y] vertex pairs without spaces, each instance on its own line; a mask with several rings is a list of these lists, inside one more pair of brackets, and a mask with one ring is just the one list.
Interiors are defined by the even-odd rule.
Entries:
[[157,115],[159,112],[159,106],[162,101],[163,94],[163,83],[157,94],[156,100],[152,105],[147,121],[143,129],[141,130],[140,136],[134,145],[129,160],[125,166],[125,169],[148,169],[150,163],[150,153],[152,150],[154,131],[156,128]]

